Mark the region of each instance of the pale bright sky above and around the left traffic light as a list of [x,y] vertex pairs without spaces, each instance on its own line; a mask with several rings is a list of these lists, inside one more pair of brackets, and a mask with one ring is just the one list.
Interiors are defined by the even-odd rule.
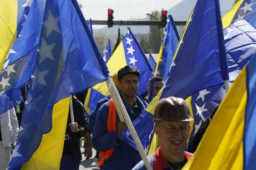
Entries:
[[[108,8],[114,11],[114,20],[145,18],[153,10],[168,10],[182,0],[78,0],[86,20],[107,20]],[[168,4],[168,5],[167,5]],[[95,26],[93,29],[104,26]]]

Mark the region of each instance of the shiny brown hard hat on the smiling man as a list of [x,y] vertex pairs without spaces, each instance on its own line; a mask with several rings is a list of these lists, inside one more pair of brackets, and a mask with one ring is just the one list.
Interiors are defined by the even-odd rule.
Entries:
[[187,103],[182,98],[168,97],[155,108],[153,121],[191,121]]

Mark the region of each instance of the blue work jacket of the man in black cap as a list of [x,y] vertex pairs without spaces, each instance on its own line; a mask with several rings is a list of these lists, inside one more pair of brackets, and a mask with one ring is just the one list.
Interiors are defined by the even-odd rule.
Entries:
[[[147,103],[136,94],[138,107],[130,108],[124,101],[121,92],[120,97],[124,103],[126,111],[133,122],[147,107]],[[104,103],[98,110],[95,120],[95,126],[92,135],[92,146],[96,151],[104,151],[115,148],[110,159],[106,160],[100,169],[122,169],[131,170],[138,162],[141,156],[138,151],[133,149],[128,143],[120,141],[116,138],[116,130],[108,133],[108,112],[109,101]],[[119,123],[119,117],[116,112],[116,128]]]

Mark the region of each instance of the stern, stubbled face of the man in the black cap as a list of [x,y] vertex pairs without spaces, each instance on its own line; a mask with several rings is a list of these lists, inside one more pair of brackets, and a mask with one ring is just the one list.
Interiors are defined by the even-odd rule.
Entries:
[[138,89],[138,76],[135,74],[124,75],[121,81],[118,81],[118,87],[124,97],[134,97]]

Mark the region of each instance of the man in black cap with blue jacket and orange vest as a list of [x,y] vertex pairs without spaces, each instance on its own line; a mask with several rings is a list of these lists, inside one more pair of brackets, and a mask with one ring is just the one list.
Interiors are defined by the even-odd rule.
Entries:
[[[119,95],[131,119],[135,120],[147,107],[136,93],[140,73],[136,67],[125,66],[118,71]],[[113,100],[104,103],[98,110],[95,120],[92,145],[100,151],[100,169],[132,169],[141,161],[140,154],[129,144],[119,140],[121,132],[127,128],[120,122]]]

